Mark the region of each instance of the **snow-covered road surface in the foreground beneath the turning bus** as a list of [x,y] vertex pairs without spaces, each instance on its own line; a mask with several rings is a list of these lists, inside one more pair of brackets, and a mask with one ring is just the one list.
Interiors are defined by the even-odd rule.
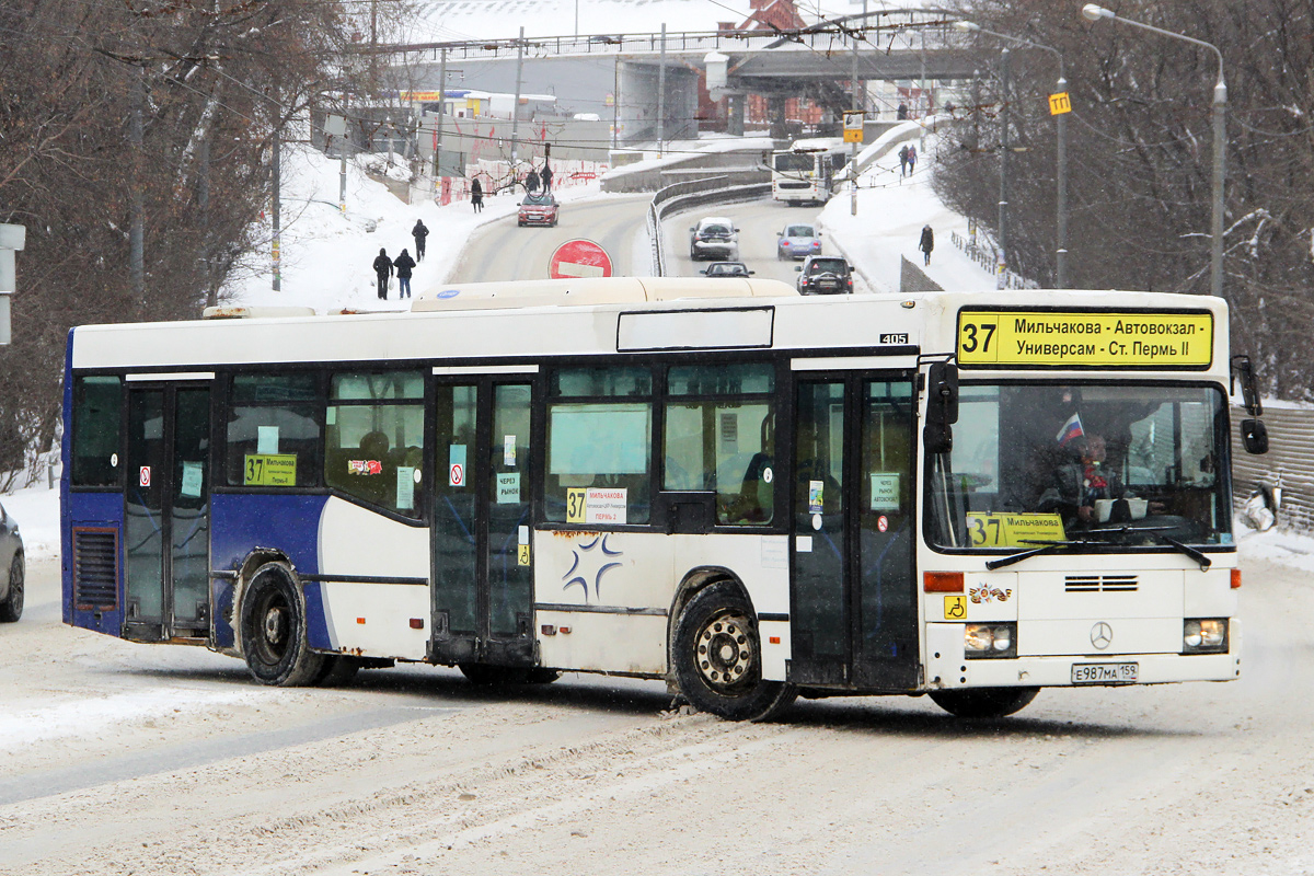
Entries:
[[1311,873],[1314,583],[1250,561],[1242,592],[1238,683],[738,725],[623,679],[256,687],[62,626],[43,561],[0,628],[0,873]]

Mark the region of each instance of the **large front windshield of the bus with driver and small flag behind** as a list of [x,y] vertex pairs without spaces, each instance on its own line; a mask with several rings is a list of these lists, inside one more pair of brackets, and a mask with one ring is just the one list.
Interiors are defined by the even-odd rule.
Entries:
[[953,437],[926,465],[936,548],[1231,544],[1217,386],[964,383]]

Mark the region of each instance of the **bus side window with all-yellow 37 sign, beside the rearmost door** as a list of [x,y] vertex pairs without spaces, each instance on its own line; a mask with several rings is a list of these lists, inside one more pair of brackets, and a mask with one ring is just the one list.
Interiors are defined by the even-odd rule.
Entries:
[[319,485],[319,377],[234,374],[225,470],[230,486]]

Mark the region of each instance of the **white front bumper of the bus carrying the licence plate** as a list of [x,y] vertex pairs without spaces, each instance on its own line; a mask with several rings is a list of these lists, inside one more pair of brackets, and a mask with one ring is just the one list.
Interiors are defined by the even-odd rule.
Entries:
[[[1231,682],[1240,676],[1240,621],[1233,619],[1229,650],[1223,654],[1066,654],[968,661],[963,659],[961,642],[928,642],[926,687],[1113,687]],[[954,644],[959,646],[954,649]]]

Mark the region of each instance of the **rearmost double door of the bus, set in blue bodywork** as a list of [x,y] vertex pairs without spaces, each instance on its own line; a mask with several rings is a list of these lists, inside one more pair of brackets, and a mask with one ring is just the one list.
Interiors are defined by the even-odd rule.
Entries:
[[129,377],[126,458],[124,637],[208,638],[209,383]]

